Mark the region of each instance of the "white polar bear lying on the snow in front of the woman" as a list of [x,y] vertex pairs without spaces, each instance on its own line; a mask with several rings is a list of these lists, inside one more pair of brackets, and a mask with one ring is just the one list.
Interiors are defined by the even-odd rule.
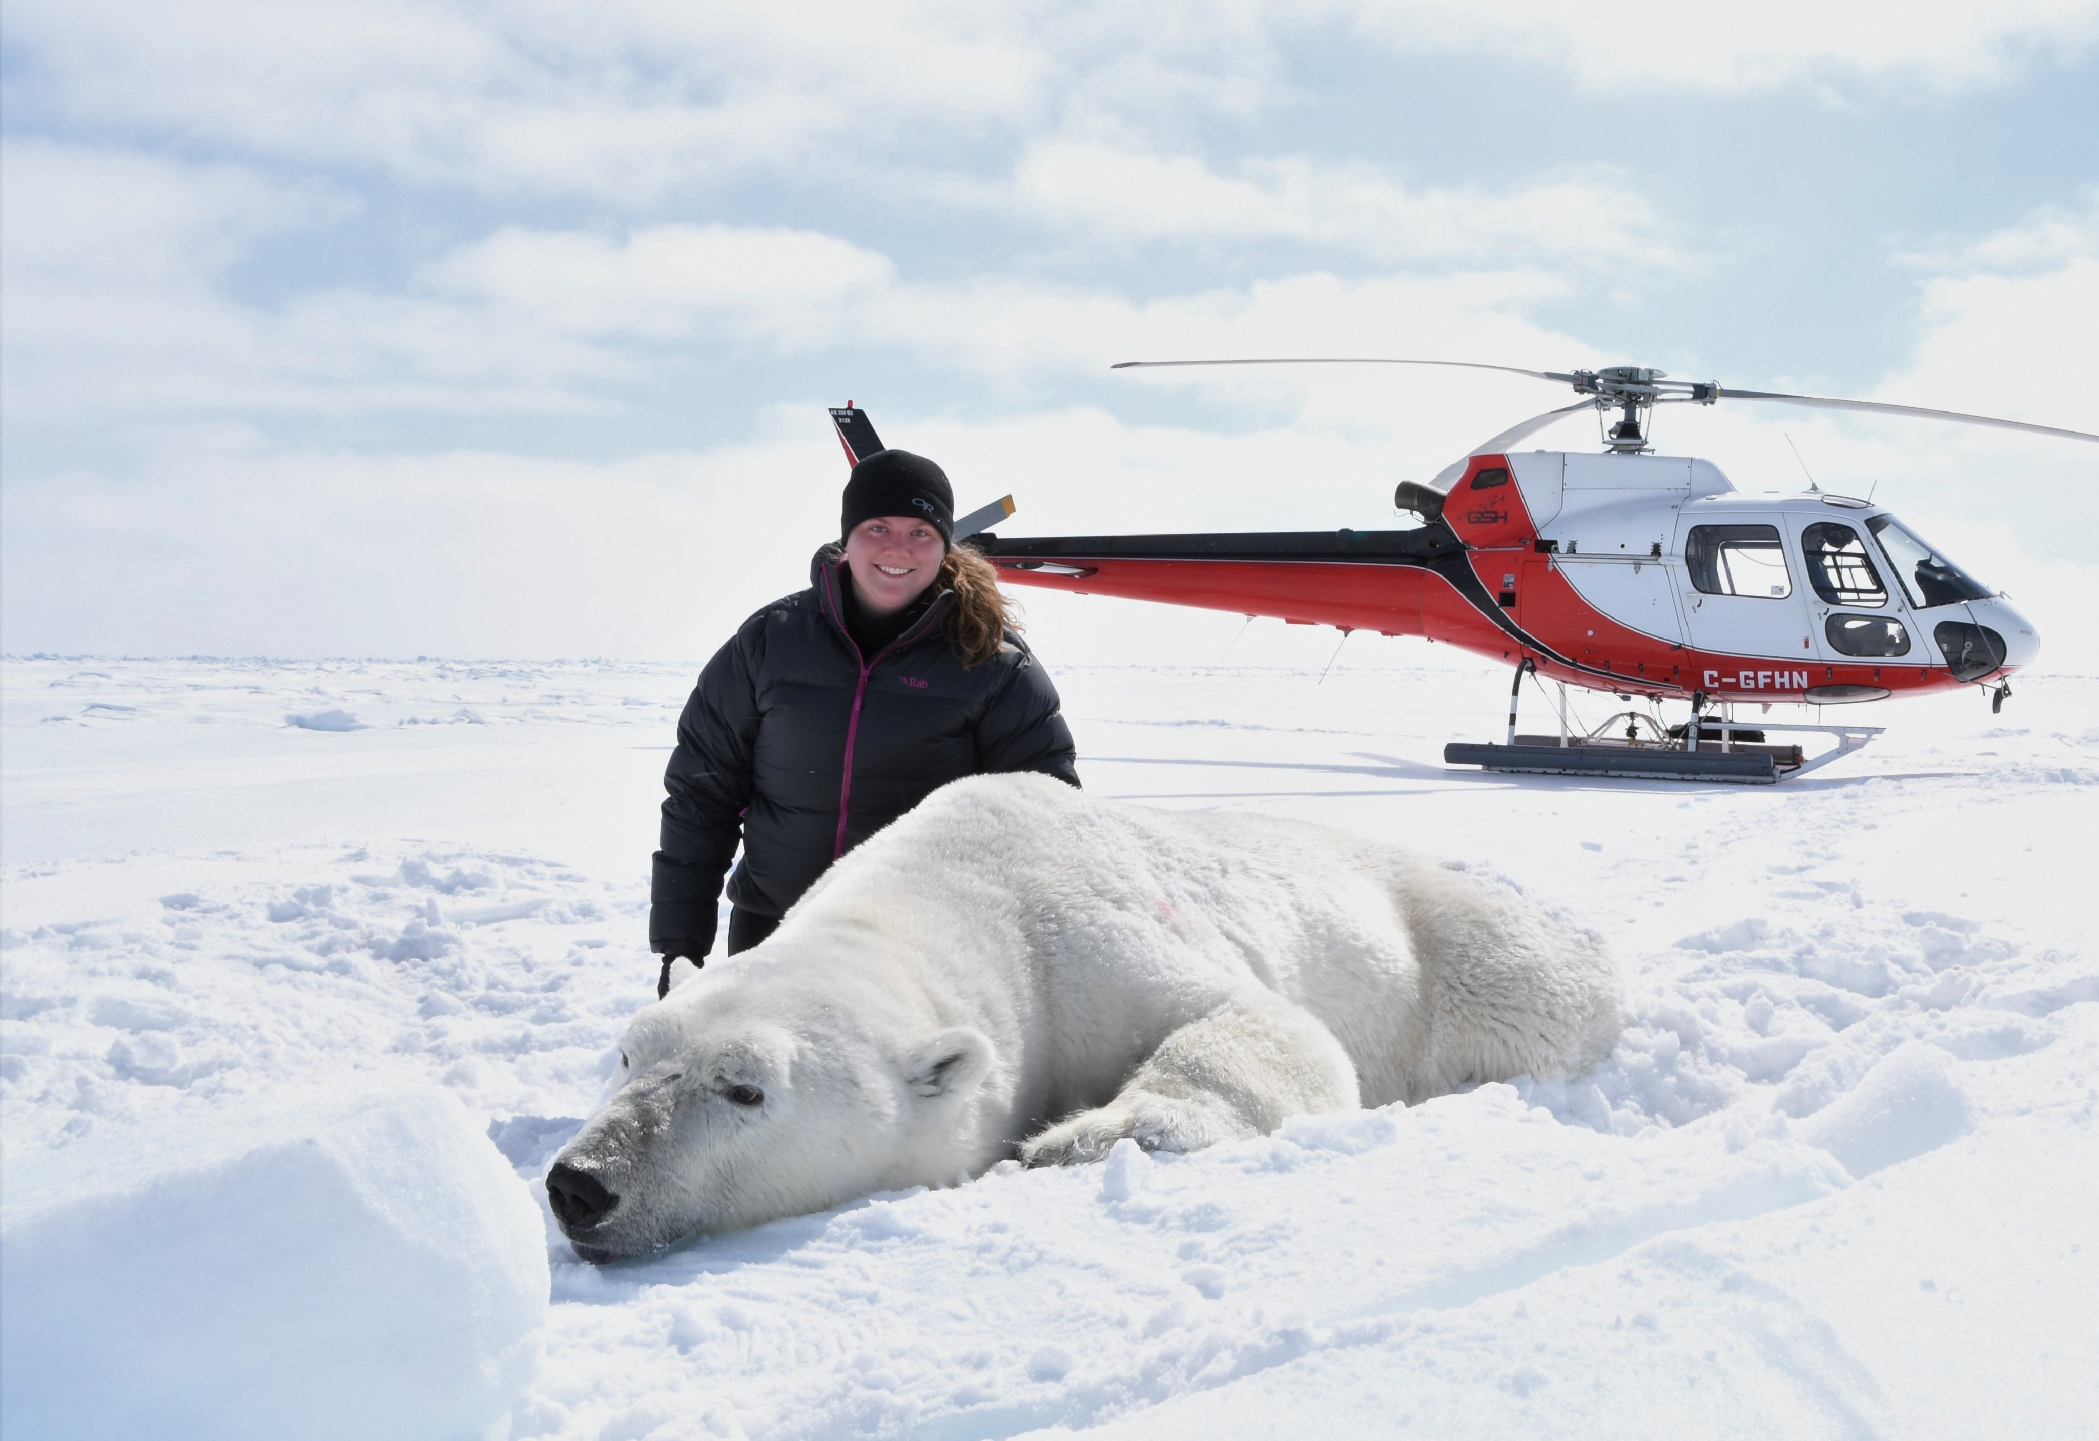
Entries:
[[1572,1076],[1620,996],[1595,935],[1411,852],[974,776],[644,1009],[548,1196],[613,1261],[1010,1156]]

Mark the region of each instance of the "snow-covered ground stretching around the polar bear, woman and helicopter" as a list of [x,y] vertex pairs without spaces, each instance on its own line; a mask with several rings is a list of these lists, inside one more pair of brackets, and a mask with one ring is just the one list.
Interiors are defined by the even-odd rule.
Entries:
[[[6,663],[8,1420],[21,1326],[69,1326],[67,1296],[126,1267],[160,1305],[222,1244],[97,1179],[109,1145],[252,1131],[166,1185],[227,1198],[225,1225],[311,1185],[376,1227],[355,1166],[315,1181],[246,1118],[434,1087],[474,1124],[401,1122],[405,1154],[451,1152],[430,1185],[487,1200],[485,1135],[542,1214],[552,1307],[510,1437],[2093,1435],[2099,684],[2026,680],[2002,715],[1849,707],[1832,719],[1887,736],[1736,789],[1448,770],[1446,740],[1499,732],[1505,673],[1379,654],[1429,659],[1056,675],[1104,795],[1400,841],[1604,931],[1633,973],[1610,1059],[605,1269],[558,1242],[537,1179],[655,992],[646,858],[693,667]],[[90,1202],[164,1246],[124,1225],[97,1246]],[[59,1240],[19,1261],[36,1225]],[[535,1326],[518,1263],[472,1231],[451,1263],[374,1261],[348,1321]],[[40,1315],[13,1300],[31,1265]],[[195,1275],[199,1305],[237,1307],[256,1267]],[[191,1342],[124,1345],[151,1374]],[[332,1405],[332,1370],[296,1376]],[[367,1405],[430,1395],[367,1378]]]

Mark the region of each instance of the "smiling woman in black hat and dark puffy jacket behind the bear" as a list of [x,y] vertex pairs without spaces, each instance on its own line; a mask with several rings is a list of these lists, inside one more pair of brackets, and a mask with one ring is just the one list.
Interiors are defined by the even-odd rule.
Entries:
[[1056,686],[1005,617],[997,575],[951,545],[947,474],[909,451],[852,468],[810,587],[754,615],[699,673],[663,774],[649,946],[670,967],[756,946],[823,868],[959,780],[1039,770],[1079,784]]

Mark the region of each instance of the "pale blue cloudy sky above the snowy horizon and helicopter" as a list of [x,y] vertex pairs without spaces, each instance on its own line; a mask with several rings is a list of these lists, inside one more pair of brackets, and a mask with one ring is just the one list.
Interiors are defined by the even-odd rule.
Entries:
[[[0,82],[10,652],[705,657],[835,529],[825,405],[1060,533],[1392,524],[1560,399],[1133,357],[2099,430],[2095,0],[10,0]],[[2099,447],[1658,440],[1877,487],[2093,654]],[[1033,615],[1070,659],[1236,629]]]

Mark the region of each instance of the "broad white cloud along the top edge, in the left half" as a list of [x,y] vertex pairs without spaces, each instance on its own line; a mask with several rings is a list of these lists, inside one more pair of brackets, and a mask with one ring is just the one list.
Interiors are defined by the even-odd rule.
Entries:
[[[665,191],[1045,103],[1037,17],[961,4],[23,0],[17,96],[76,126],[481,191]],[[1068,31],[1085,34],[1081,21]],[[966,136],[955,136],[966,138]]]

